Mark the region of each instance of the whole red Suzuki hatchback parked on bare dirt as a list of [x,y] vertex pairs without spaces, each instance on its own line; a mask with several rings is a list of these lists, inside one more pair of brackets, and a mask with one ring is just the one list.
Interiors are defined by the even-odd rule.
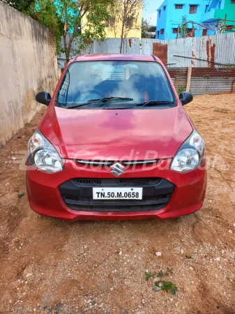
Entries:
[[39,214],[68,220],[172,218],[202,207],[205,145],[160,59],[79,55],[29,140],[26,186]]

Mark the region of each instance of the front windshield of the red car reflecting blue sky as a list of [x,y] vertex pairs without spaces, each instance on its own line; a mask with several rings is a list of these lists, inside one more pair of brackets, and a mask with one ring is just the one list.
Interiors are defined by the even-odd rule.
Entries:
[[77,109],[174,107],[162,66],[147,61],[79,61],[63,76],[56,105]]

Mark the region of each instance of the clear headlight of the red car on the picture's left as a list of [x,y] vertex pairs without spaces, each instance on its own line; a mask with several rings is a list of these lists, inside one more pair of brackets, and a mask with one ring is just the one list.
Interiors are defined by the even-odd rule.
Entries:
[[38,170],[49,173],[63,170],[61,157],[39,130],[29,140],[28,162]]

